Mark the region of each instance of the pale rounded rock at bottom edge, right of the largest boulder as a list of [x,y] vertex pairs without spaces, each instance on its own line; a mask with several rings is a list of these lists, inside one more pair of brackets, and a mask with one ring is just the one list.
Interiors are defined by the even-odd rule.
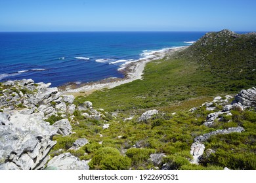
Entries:
[[89,170],[89,161],[79,160],[69,152],[55,156],[47,163],[46,169]]

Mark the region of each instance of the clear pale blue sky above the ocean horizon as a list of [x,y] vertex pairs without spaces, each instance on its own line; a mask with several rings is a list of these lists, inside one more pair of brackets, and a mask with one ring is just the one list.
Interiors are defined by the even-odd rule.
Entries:
[[255,0],[0,0],[0,31],[256,31]]

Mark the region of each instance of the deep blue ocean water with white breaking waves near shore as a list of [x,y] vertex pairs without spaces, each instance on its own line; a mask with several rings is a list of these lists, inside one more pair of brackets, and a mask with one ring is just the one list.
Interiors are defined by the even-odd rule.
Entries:
[[32,78],[61,86],[123,74],[124,63],[151,50],[190,45],[205,32],[0,33],[0,82]]

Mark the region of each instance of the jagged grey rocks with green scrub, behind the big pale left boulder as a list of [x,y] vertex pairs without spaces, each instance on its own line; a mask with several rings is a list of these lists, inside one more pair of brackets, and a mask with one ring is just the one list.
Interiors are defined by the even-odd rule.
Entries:
[[[9,112],[17,108],[30,108],[30,112],[43,112],[45,118],[74,112],[73,95],[60,96],[58,88],[49,88],[51,83],[35,83],[32,79],[7,81],[1,84],[0,108]],[[33,110],[33,111],[32,111]]]

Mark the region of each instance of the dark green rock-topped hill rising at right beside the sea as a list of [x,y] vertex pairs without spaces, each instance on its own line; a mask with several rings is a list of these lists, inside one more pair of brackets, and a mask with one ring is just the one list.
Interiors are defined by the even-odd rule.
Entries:
[[244,80],[242,85],[256,80],[256,33],[238,34],[227,29],[206,33],[181,56],[197,61],[201,69],[218,78]]

